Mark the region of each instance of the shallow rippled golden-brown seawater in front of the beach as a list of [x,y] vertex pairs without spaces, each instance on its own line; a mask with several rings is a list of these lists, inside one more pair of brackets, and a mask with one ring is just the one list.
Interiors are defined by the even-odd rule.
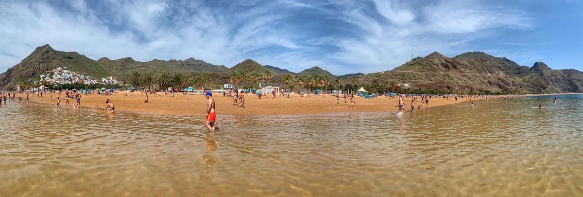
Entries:
[[[0,107],[0,196],[582,196],[581,94],[402,116]],[[532,107],[543,104],[543,110]]]

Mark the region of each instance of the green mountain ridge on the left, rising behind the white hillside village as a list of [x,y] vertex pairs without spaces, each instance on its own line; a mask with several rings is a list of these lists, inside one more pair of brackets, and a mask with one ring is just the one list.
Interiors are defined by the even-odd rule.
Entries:
[[129,76],[129,73],[134,71],[174,73],[216,72],[227,69],[223,65],[212,65],[194,58],[189,58],[185,61],[177,61],[174,59],[161,61],[153,59],[149,62],[138,62],[130,57],[115,60],[103,57],[94,61],[77,52],[56,51],[47,44],[37,47],[19,64],[9,68],[5,73],[0,74],[0,89],[13,89],[20,81],[24,82],[38,79],[38,75],[58,67],[67,67],[71,71],[80,72],[84,75],[92,76],[95,79],[108,76],[125,79]]

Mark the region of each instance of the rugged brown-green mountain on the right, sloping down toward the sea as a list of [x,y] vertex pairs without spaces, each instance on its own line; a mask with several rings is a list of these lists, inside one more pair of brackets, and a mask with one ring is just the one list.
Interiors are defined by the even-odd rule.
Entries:
[[465,52],[453,58],[433,52],[414,58],[392,71],[360,77],[363,82],[384,79],[406,83],[412,89],[472,90],[519,93],[582,92],[583,73],[553,70],[543,62],[531,68],[505,57],[484,52]]

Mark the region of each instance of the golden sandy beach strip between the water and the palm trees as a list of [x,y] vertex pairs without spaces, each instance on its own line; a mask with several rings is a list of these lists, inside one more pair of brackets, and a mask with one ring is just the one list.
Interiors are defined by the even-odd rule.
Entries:
[[[154,96],[150,94],[149,103],[144,103],[145,96],[141,93],[128,93],[124,96],[124,92],[114,93],[111,96],[102,96],[98,94],[82,95],[82,108],[106,107],[106,99],[114,102],[117,111],[131,111],[145,114],[163,114],[163,115],[204,115],[206,110],[206,98],[202,94],[195,94],[189,96],[178,97],[165,95],[164,93]],[[17,97],[22,97],[26,101],[26,95],[18,94]],[[57,97],[65,97],[65,93],[54,94],[51,100],[50,94],[44,94],[43,98],[37,95],[30,95],[30,102],[50,104],[55,107]],[[257,96],[249,94],[246,96],[245,108],[233,107],[233,97],[223,97],[222,94],[215,94],[213,96],[216,101],[217,114],[274,114],[274,115],[297,115],[297,114],[332,114],[343,112],[396,112],[398,108],[398,100],[389,99],[387,97],[377,97],[374,99],[364,99],[363,97],[355,97],[356,105],[354,107],[345,106],[344,99],[340,98],[340,105],[336,105],[336,98],[327,95],[319,96],[312,95],[312,97],[300,97],[298,94],[293,94],[291,98],[283,96],[276,96],[272,99],[271,96],[262,97],[258,99]],[[71,104],[74,100],[71,100]],[[455,101],[454,99],[441,99],[434,97],[429,100],[429,107],[440,105],[461,103],[466,101],[463,98]],[[61,101],[63,109],[65,110],[65,101]],[[411,98],[405,98],[405,111],[410,111]],[[348,100],[350,105],[350,100]],[[417,103],[416,105],[421,105]],[[423,106],[422,108],[424,108]],[[69,107],[71,109],[71,107]]]

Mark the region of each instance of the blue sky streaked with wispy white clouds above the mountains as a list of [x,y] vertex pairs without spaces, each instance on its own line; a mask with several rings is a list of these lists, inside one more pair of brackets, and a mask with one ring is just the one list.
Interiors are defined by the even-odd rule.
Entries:
[[583,71],[583,1],[0,1],[0,72],[44,44],[92,59],[254,59],[335,75],[433,51]]

